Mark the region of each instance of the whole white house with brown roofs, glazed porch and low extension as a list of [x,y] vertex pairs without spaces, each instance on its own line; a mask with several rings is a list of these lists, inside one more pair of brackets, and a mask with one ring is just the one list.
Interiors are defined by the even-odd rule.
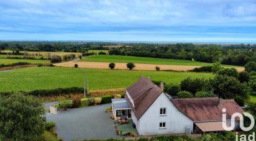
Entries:
[[142,76],[126,89],[125,99],[112,99],[115,119],[131,118],[140,135],[191,134],[224,130],[222,108],[227,109],[227,119],[243,112],[234,100],[170,99],[161,88]]

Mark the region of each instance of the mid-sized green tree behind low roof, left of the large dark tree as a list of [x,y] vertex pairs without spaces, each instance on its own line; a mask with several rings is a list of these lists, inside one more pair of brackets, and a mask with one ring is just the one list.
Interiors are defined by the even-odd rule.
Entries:
[[195,78],[192,79],[190,77],[182,80],[180,83],[180,87],[182,91],[189,91],[190,93],[195,94],[198,91],[202,91],[204,86],[208,83],[208,80],[204,78]]

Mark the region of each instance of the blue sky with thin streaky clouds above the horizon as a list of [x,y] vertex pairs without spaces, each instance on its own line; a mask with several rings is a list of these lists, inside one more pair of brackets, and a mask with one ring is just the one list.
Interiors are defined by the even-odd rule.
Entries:
[[256,43],[256,1],[0,1],[0,40]]

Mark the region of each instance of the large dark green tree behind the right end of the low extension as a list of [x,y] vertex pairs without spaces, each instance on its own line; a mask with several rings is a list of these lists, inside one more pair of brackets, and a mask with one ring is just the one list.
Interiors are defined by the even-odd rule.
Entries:
[[248,99],[247,86],[234,77],[216,75],[214,79],[209,80],[209,86],[219,98],[234,99],[235,96],[241,96],[244,100]]

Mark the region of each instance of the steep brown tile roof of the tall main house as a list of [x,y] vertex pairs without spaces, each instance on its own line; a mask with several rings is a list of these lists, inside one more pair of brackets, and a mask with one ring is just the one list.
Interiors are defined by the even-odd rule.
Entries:
[[129,86],[129,88],[126,90],[132,98],[132,101],[134,101],[133,106],[132,102],[126,95],[126,100],[134,112],[137,120],[142,117],[147,109],[149,109],[149,107],[153,104],[155,99],[157,99],[162,93],[162,90],[157,85],[152,83],[152,81],[148,80],[147,78],[144,78],[144,76],[140,77],[136,83]]

